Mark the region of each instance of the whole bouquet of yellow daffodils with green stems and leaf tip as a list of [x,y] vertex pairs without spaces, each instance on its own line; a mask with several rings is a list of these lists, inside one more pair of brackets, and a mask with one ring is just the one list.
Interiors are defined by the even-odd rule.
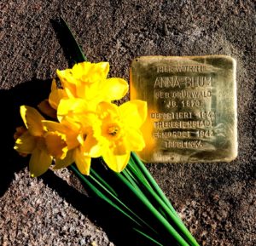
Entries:
[[[147,103],[113,104],[125,96],[128,83],[108,78],[108,62],[86,61],[64,20],[62,24],[80,62],[56,71],[49,98],[38,110],[20,106],[24,126],[16,129],[15,150],[22,156],[31,154],[33,177],[51,165],[70,166],[90,192],[131,221],[145,245],[199,245],[135,153],[145,146],[140,128]],[[91,165],[95,158],[96,167]],[[108,168],[98,168],[102,165]]]

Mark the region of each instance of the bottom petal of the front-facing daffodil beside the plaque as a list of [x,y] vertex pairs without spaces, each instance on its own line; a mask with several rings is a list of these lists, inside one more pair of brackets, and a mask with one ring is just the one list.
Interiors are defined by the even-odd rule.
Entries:
[[105,163],[107,163],[108,168],[112,169],[114,172],[121,172],[125,169],[127,163],[129,162],[131,152],[126,153],[125,155],[114,155],[110,150],[106,150],[102,155]]

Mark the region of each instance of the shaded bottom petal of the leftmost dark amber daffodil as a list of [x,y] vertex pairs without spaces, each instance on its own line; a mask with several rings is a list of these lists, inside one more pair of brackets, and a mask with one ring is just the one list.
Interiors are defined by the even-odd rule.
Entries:
[[34,149],[32,156],[29,161],[29,170],[32,177],[38,177],[44,174],[52,162],[52,157],[46,150],[41,150],[39,148]]

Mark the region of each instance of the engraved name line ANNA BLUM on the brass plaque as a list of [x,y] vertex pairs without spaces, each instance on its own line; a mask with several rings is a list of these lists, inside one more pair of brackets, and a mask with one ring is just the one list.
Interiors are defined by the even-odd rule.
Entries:
[[156,77],[154,81],[154,89],[162,88],[196,88],[196,87],[211,87],[212,77],[196,76],[196,77]]

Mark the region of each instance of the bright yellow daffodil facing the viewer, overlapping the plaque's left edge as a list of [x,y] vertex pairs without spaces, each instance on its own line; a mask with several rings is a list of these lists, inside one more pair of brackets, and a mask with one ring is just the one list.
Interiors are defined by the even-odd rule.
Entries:
[[102,157],[110,169],[121,172],[131,151],[140,152],[145,146],[140,128],[147,117],[147,104],[143,100],[131,100],[121,106],[102,102],[98,112],[104,139]]

